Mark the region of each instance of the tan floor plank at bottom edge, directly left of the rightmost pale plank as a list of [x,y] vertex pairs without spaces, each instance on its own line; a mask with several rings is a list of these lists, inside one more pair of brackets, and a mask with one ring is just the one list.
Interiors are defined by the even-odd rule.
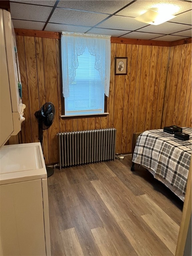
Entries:
[[132,215],[130,220],[118,224],[138,255],[173,255],[140,216]]

